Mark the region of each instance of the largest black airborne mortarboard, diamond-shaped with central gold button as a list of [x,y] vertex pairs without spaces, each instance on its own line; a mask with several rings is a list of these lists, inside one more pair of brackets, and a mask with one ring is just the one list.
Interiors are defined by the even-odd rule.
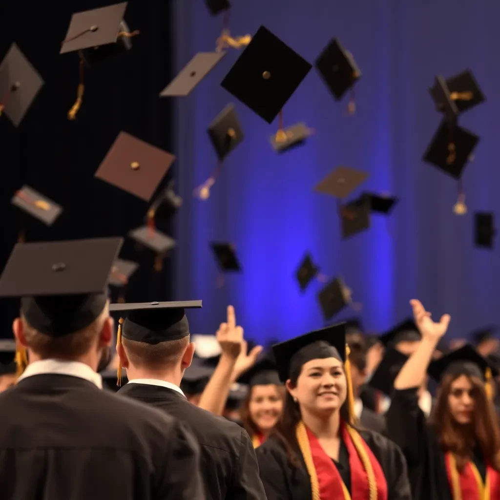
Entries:
[[271,123],[312,66],[264,26],[222,80],[222,87]]

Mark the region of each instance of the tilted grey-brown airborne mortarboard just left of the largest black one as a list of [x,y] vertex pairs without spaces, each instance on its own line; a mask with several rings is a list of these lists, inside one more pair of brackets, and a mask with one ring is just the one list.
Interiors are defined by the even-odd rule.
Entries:
[[226,52],[198,52],[160,92],[160,97],[185,97],[219,63]]

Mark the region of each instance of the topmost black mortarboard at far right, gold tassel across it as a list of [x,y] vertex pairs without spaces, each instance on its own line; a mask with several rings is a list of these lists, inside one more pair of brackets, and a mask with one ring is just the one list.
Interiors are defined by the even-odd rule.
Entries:
[[[449,97],[455,103],[459,113],[466,111],[485,100],[479,85],[477,84],[470,69],[446,78]],[[434,85],[429,89],[438,111],[444,110],[444,103],[439,95],[439,88]]]

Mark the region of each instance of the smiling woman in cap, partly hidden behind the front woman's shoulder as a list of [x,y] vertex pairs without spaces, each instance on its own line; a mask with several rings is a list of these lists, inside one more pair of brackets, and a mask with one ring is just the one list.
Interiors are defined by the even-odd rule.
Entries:
[[285,388],[279,380],[275,363],[265,357],[239,380],[242,383],[248,380],[248,393],[241,405],[240,416],[253,447],[257,448],[267,439],[281,416]]

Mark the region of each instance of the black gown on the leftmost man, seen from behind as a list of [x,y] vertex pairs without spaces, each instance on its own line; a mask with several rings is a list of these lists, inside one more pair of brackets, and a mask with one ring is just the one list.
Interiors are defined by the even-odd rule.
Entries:
[[204,500],[199,447],[171,416],[88,380],[38,374],[0,394],[5,500]]

